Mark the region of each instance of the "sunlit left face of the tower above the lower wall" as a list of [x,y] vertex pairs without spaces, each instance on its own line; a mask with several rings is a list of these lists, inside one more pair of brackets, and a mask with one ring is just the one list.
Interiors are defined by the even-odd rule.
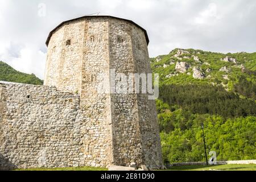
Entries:
[[80,93],[83,28],[84,22],[77,20],[65,24],[52,35],[48,45],[48,72],[44,85],[53,85],[59,90]]

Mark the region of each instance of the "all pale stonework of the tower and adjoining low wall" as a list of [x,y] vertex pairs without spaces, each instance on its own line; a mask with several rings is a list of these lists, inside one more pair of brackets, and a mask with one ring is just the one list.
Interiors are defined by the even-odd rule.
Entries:
[[162,167],[155,101],[110,93],[111,86],[98,92],[102,82],[111,85],[111,69],[151,73],[141,28],[109,16],[57,28],[45,86],[0,85],[0,168]]

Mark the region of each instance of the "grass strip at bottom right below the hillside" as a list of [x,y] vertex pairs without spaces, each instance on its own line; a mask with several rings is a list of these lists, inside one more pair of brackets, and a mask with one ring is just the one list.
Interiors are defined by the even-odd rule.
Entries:
[[225,164],[214,166],[174,166],[168,171],[256,171],[256,164]]

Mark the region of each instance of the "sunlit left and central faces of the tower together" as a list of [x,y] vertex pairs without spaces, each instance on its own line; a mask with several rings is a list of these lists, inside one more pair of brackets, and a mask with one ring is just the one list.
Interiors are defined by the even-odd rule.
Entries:
[[[108,35],[107,19],[80,19],[60,27],[48,44],[49,71],[44,85],[80,94],[79,118],[86,125],[81,138],[86,166],[106,167],[113,162],[110,96],[97,93],[99,82],[109,74]],[[58,73],[52,77],[56,67]]]

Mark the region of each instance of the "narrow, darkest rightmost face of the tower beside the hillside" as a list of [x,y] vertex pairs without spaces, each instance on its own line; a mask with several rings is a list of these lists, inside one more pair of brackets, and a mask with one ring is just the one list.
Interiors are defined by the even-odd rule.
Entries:
[[[152,73],[144,33],[138,27],[131,31],[135,72]],[[152,78],[154,79],[154,78]],[[137,94],[139,126],[141,131],[143,163],[149,168],[162,167],[162,148],[155,100],[148,100],[148,94]]]

